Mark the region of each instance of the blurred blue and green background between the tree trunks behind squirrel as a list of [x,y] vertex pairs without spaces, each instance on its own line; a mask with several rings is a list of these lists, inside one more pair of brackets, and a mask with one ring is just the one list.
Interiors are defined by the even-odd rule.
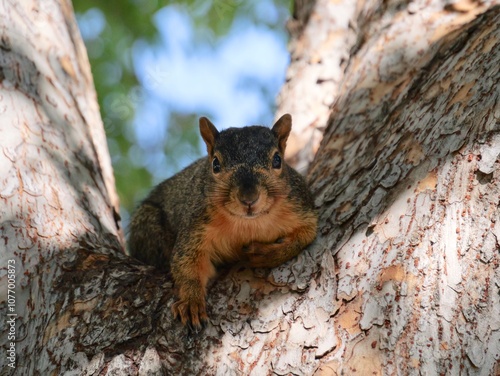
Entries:
[[198,118],[272,125],[291,0],[73,0],[123,225],[152,186],[200,156]]

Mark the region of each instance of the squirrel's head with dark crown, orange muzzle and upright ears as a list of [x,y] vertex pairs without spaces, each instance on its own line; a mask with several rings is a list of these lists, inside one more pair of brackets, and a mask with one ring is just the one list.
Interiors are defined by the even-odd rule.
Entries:
[[290,187],[284,155],[291,129],[289,114],[272,129],[254,125],[221,132],[200,118],[214,181],[209,192],[212,202],[231,215],[250,219],[268,213],[285,198]]

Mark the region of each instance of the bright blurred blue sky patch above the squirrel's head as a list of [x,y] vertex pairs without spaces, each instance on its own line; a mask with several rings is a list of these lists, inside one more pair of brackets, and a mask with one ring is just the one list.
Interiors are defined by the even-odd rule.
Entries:
[[[207,115],[221,128],[272,121],[262,88],[275,96],[284,82],[289,57],[282,36],[239,17],[215,44],[199,41],[179,6],[161,9],[155,23],[161,45],[137,43],[134,64],[163,111]],[[154,137],[157,126],[137,127],[138,139]]]

